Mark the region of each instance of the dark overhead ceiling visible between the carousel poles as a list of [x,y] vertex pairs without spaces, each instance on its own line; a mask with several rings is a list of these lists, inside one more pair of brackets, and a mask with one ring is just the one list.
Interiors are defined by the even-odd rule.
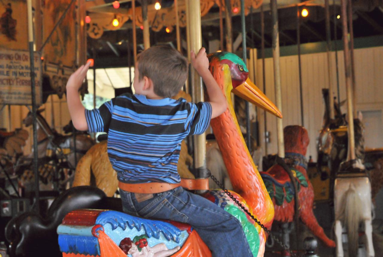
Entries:
[[[183,0],[178,0],[178,2]],[[342,26],[336,16],[340,14],[340,0],[330,1],[331,18],[331,39],[340,39]],[[89,13],[119,13],[128,15],[131,8],[131,1],[120,0],[120,7],[113,8],[113,0],[93,0],[87,1],[87,11]],[[154,5],[155,0],[149,0],[150,5]],[[257,1],[260,2],[260,1]],[[271,13],[270,0],[264,0],[264,25],[265,25],[265,47],[271,46]],[[353,26],[354,37],[366,37],[383,35],[383,0],[353,0]],[[161,0],[162,8],[173,6],[173,0]],[[295,45],[297,39],[297,5],[300,8],[307,8],[309,15],[301,18],[300,41],[301,44],[307,42],[318,42],[326,39],[325,31],[325,12],[324,0],[278,0],[278,21],[280,30],[280,45]],[[136,6],[140,4],[136,1]],[[126,18],[128,20],[128,18]],[[210,40],[219,40],[219,7],[213,5],[209,12],[201,18],[203,46],[208,47]],[[238,37],[241,31],[241,20],[239,13],[232,17],[233,40]],[[246,16],[247,47],[260,48],[261,19],[260,8],[252,10]],[[186,39],[185,28],[180,29],[181,38]],[[142,47],[142,30],[136,29],[138,47]],[[170,33],[165,28],[158,32],[150,31],[151,45],[158,43],[168,43],[176,45],[175,29]],[[131,20],[126,21],[118,30],[105,30],[99,39],[88,37],[88,57],[95,55],[95,65],[102,67],[126,66],[128,59],[131,59],[132,51],[132,25]],[[185,44],[184,44],[185,45]],[[128,52],[130,55],[128,55]],[[185,49],[183,49],[185,53]],[[98,61],[97,61],[98,60]],[[130,60],[131,61],[131,60]],[[130,63],[133,63],[131,61]]]

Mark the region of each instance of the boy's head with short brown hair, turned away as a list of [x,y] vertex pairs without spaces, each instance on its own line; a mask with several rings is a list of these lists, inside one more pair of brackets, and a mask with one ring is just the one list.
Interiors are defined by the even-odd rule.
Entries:
[[140,94],[140,83],[142,84],[142,79],[147,77],[153,82],[156,95],[172,97],[185,84],[187,75],[188,62],[180,52],[169,45],[154,46],[137,56],[133,86]]

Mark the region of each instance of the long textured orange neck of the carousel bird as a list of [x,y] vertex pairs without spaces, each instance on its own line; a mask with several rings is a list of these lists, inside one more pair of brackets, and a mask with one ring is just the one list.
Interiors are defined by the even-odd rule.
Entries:
[[[226,66],[226,65],[225,65]],[[254,165],[231,103],[230,72],[225,68],[217,69],[220,74],[214,78],[223,89],[228,101],[228,110],[211,120],[219,149],[221,150],[226,168],[229,173],[234,191],[239,193],[249,205],[250,211],[265,226],[271,225],[274,217],[274,207],[264,182]]]

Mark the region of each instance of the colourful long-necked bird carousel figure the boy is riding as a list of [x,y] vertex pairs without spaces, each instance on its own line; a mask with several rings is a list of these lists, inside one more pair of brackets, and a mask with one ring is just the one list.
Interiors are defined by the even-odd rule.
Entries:
[[[224,153],[224,162],[235,191],[230,193],[254,217],[270,228],[274,216],[273,204],[247,150],[231,105],[230,93],[234,92],[278,117],[282,115],[275,105],[247,79],[248,71],[241,58],[224,52],[208,55],[208,58],[209,69],[226,96],[229,107],[225,113],[211,120],[211,126],[219,148]],[[223,190],[208,191],[204,197],[238,218],[253,255],[263,256],[265,231],[254,220],[247,217],[246,213],[236,205],[234,200],[226,196]],[[160,243],[164,243],[170,250],[181,247],[172,255],[173,257],[211,256],[196,231],[188,225],[173,221],[147,220],[114,211],[70,212],[57,231],[63,256],[87,254],[126,256],[126,251],[137,251],[133,244],[138,246],[138,251],[144,251],[145,247],[157,247]],[[129,250],[126,250],[128,248]],[[168,251],[162,246],[157,248]]]

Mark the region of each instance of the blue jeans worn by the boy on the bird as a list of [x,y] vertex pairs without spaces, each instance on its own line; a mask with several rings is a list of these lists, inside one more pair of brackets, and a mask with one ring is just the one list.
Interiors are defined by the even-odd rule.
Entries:
[[153,194],[137,202],[134,193],[120,189],[123,210],[130,215],[188,223],[211,250],[213,257],[253,256],[241,223],[210,200],[182,187]]

